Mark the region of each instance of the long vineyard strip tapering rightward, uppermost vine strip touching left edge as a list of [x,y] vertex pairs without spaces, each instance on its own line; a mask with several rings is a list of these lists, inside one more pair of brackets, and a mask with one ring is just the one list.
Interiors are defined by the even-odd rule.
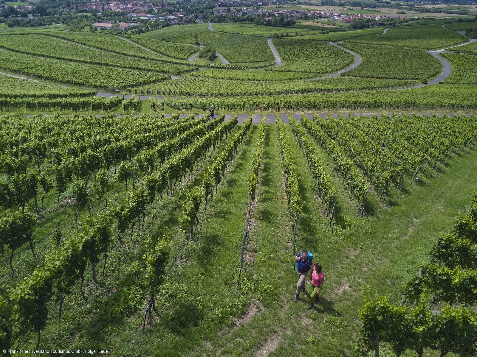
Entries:
[[177,60],[173,58],[168,58],[167,62],[139,59],[119,53],[82,47],[52,36],[36,34],[0,36],[0,47],[43,57],[164,73],[176,73],[177,68],[179,71],[197,68],[192,63],[177,63]]

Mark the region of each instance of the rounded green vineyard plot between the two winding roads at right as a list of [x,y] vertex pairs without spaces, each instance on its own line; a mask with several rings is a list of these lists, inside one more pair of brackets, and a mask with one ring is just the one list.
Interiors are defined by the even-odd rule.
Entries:
[[423,50],[352,42],[341,45],[362,58],[358,67],[346,72],[347,76],[423,79],[442,71],[441,63]]

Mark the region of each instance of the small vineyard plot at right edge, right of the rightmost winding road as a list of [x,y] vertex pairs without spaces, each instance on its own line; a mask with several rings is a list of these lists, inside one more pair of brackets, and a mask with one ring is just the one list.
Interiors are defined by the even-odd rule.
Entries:
[[452,65],[452,73],[444,80],[446,84],[477,84],[477,56],[466,53],[442,54]]

